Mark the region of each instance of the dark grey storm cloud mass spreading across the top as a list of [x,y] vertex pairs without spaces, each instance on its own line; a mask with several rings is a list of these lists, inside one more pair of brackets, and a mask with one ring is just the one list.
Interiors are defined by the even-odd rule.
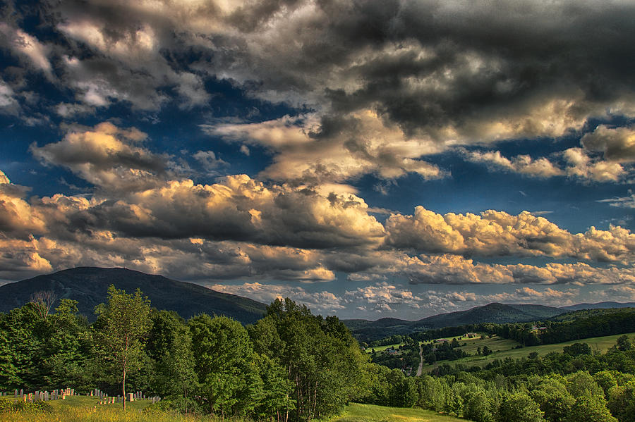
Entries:
[[465,143],[634,112],[628,2],[94,0],[41,15],[60,39],[7,26],[32,39],[7,48],[90,106],[205,106],[215,77],[332,113],[323,125],[373,109],[408,136]]

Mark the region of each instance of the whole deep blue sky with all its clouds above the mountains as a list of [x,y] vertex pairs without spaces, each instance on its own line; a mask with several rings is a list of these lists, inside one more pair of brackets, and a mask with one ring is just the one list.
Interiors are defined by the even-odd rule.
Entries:
[[635,3],[0,6],[0,283],[340,318],[635,301]]

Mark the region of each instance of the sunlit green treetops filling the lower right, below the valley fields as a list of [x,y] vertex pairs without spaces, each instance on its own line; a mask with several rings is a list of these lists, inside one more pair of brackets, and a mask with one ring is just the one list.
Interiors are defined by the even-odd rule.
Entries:
[[605,354],[586,343],[485,368],[439,366],[422,377],[377,370],[370,404],[421,407],[476,422],[635,422],[635,347],[626,335]]

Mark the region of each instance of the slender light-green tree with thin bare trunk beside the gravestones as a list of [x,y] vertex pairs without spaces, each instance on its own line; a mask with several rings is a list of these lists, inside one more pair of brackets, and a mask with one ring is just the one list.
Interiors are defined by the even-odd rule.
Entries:
[[121,381],[123,410],[126,410],[126,376],[141,364],[143,340],[151,323],[150,300],[143,297],[139,289],[127,294],[110,285],[108,303],[95,306],[95,314],[97,348],[116,368],[116,378]]

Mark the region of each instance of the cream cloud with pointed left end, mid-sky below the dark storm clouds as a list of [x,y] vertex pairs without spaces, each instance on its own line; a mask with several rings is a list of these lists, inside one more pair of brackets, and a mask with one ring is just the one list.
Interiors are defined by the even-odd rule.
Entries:
[[431,139],[408,137],[397,125],[373,111],[351,114],[346,121],[316,120],[315,116],[285,116],[262,123],[203,125],[210,135],[233,142],[257,144],[277,153],[261,176],[310,183],[343,182],[373,173],[399,178],[417,173],[425,179],[447,173],[421,160],[441,151]]

